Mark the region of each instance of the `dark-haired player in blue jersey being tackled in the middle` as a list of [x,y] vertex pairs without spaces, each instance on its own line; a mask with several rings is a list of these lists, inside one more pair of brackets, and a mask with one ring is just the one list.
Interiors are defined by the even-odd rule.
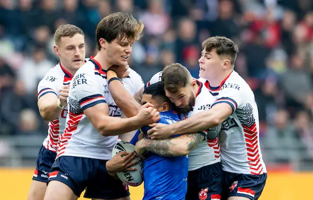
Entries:
[[[179,115],[173,109],[173,103],[165,96],[161,82],[157,82],[147,87],[143,92],[141,102],[143,104],[147,102],[153,104],[160,112],[161,119],[157,123],[171,124],[179,121]],[[144,138],[147,136],[147,131],[150,128],[151,127],[149,126],[143,126],[140,129]],[[135,145],[139,137],[140,131],[138,130],[134,135],[134,138],[131,140],[131,143]],[[130,157],[131,154],[126,155],[124,159],[126,160]],[[114,172],[123,170],[123,168],[116,163],[118,160],[121,160],[121,155],[119,154],[107,162],[107,169],[112,176],[116,175]],[[120,163],[122,164],[122,162]],[[127,167],[130,167],[132,163],[128,162],[126,165]],[[155,153],[147,152],[145,154],[143,173],[145,190],[143,200],[185,199],[188,176],[188,157],[186,155],[178,157],[162,157]]]

